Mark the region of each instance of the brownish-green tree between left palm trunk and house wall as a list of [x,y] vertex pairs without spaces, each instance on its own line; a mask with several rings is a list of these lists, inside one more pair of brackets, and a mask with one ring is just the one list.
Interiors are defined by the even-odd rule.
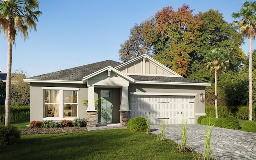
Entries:
[[29,84],[23,82],[26,78],[26,72],[14,70],[12,73],[11,86],[11,105],[26,106],[29,105]]

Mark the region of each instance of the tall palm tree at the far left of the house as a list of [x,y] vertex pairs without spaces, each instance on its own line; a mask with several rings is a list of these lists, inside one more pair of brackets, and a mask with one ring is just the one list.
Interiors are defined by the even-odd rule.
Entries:
[[10,125],[10,89],[12,71],[12,46],[16,35],[20,32],[24,40],[28,37],[28,29],[36,31],[39,11],[37,0],[0,0],[0,29],[8,38],[7,77],[5,99],[5,125]]

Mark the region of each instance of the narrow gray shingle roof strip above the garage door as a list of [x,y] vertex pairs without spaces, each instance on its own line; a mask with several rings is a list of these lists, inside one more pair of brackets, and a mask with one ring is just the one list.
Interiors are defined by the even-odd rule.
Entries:
[[181,83],[205,83],[198,80],[192,80],[183,77],[164,77],[164,76],[138,76],[128,75],[134,80],[138,81],[152,81],[152,82],[181,82]]

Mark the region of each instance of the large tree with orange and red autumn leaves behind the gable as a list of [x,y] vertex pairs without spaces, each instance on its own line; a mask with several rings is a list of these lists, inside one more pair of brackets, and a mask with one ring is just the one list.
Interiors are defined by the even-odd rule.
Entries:
[[154,58],[183,76],[189,70],[191,57],[200,49],[195,43],[202,35],[203,21],[192,12],[185,4],[177,11],[172,6],[164,7],[143,29],[144,38],[154,47]]

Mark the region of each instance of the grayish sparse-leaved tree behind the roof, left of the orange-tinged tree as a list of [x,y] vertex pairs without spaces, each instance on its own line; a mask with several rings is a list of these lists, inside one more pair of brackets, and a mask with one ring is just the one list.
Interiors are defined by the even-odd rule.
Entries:
[[128,62],[142,54],[152,55],[151,45],[143,38],[143,26],[143,22],[139,26],[135,24],[130,30],[129,40],[120,45],[119,59],[123,62]]

